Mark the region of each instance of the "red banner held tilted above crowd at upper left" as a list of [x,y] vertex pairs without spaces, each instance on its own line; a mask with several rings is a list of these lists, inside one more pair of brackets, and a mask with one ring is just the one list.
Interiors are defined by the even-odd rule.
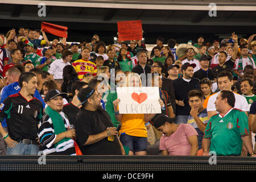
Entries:
[[61,38],[68,38],[68,34],[67,34],[68,27],[42,22],[41,28],[44,32],[47,32],[49,34],[53,34]]

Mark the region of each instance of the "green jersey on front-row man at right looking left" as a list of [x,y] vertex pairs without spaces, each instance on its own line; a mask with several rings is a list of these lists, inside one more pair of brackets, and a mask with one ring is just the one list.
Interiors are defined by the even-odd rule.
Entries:
[[249,135],[248,131],[245,112],[232,108],[223,116],[215,114],[210,118],[204,138],[210,139],[210,151],[217,155],[241,155],[241,137]]

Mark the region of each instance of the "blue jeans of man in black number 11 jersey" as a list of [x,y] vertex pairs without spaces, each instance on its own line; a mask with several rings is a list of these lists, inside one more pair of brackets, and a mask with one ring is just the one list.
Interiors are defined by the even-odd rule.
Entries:
[[7,147],[6,155],[38,155],[39,146],[36,144],[15,143],[15,147]]

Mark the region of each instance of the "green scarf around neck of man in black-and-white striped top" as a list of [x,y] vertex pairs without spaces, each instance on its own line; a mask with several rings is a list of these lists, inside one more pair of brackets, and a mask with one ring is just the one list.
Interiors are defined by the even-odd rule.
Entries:
[[[49,115],[49,117],[52,120],[52,124],[53,124],[53,129],[54,129],[54,133],[60,134],[63,133],[66,130],[64,122],[63,122],[63,118],[61,117],[61,115],[55,111],[52,110],[50,106],[46,107],[46,114]],[[62,140],[60,140],[59,142],[54,144],[54,147],[56,148],[56,151],[64,151],[65,150],[65,146],[69,143],[72,143],[73,140],[71,138],[63,138]]]

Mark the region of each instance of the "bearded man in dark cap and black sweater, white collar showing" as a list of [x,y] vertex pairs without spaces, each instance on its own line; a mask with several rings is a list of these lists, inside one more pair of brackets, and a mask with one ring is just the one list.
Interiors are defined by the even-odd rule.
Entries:
[[183,77],[179,77],[173,81],[176,102],[176,123],[187,123],[188,115],[191,110],[188,104],[188,92],[193,89],[200,89],[200,80],[194,78],[193,68],[196,64],[185,63],[181,67]]

